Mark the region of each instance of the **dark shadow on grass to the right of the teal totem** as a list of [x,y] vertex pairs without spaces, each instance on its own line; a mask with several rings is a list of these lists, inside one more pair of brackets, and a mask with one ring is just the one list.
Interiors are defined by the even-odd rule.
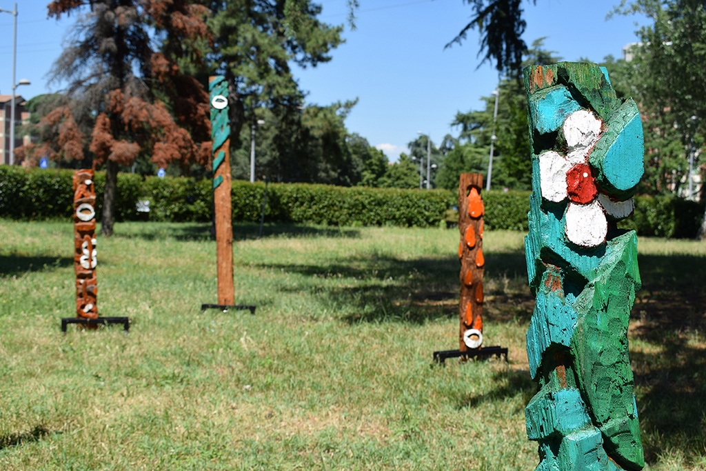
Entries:
[[650,348],[630,353],[645,459],[706,449],[705,256],[638,256],[642,290],[630,334]]

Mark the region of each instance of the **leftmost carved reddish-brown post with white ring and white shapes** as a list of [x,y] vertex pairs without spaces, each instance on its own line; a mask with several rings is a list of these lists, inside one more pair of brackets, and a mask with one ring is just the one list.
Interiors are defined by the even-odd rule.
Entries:
[[76,270],[76,315],[97,318],[95,277],[95,185],[93,171],[73,172],[73,266]]

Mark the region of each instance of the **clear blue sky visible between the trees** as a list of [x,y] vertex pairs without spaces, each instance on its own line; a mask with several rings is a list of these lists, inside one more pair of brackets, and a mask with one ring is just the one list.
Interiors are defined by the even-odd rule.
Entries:
[[[47,0],[19,0],[17,81],[28,78],[17,93],[30,98],[57,91],[47,84],[47,73],[61,53],[61,44],[76,16],[47,19]],[[345,0],[318,0],[321,20],[346,22]],[[457,111],[480,109],[480,98],[492,93],[498,74],[489,64],[477,68],[478,34],[471,31],[458,46],[444,49],[468,22],[472,10],[462,0],[359,0],[357,30],[346,28],[345,44],[333,51],[333,60],[316,68],[297,69],[306,100],[329,105],[338,100],[359,102],[347,118],[349,131],[382,148],[397,160],[417,131],[430,133],[434,143],[446,133]],[[546,49],[564,60],[580,57],[601,61],[621,56],[634,42],[637,17],[606,20],[618,0],[527,0],[525,42],[546,36]],[[12,10],[13,1],[0,0]],[[12,16],[0,13],[0,93],[12,83]]]

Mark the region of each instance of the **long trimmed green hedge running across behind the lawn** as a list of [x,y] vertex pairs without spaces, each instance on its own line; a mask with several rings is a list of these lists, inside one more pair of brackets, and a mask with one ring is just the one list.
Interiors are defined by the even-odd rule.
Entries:
[[[72,170],[24,169],[0,165],[0,217],[42,220],[71,217]],[[104,172],[96,172],[97,213],[102,210]],[[265,184],[234,181],[234,221],[260,220]],[[488,229],[527,230],[529,191],[483,193]],[[136,203],[150,200],[150,220],[206,222],[213,213],[210,179],[118,174],[116,220],[139,220]],[[408,189],[345,188],[316,184],[270,184],[265,207],[268,222],[326,225],[430,227],[443,222],[457,205],[455,192]],[[695,237],[704,205],[674,196],[637,196],[635,214],[621,227],[657,237]]]

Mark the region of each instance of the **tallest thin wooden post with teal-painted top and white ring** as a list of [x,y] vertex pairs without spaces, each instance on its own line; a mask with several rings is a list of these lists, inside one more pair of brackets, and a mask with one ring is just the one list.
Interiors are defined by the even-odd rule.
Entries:
[[213,201],[215,205],[218,304],[235,304],[233,286],[233,226],[230,178],[230,124],[228,83],[222,76],[208,78],[213,142]]

